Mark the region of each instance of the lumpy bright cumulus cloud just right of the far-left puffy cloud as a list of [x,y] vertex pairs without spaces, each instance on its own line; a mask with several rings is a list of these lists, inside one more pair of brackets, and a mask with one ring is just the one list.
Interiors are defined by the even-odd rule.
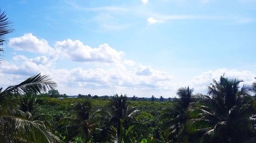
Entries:
[[57,41],[55,46],[61,53],[76,62],[102,62],[116,63],[121,60],[122,51],[111,48],[108,44],[102,44],[98,48],[91,48],[79,40]]

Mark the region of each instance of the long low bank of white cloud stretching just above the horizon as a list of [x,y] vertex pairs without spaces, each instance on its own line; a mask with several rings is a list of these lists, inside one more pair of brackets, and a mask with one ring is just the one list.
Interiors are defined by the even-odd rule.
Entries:
[[18,57],[25,60],[20,65],[8,62],[0,65],[0,77],[2,80],[0,83],[19,83],[27,77],[41,72],[50,75],[58,83],[60,92],[68,94],[70,94],[70,91],[73,94],[82,94],[90,91],[93,94],[110,95],[113,89],[115,93],[140,94],[141,96],[162,94],[165,97],[172,94],[173,97],[176,90],[185,85],[195,88],[194,93],[206,94],[206,87],[212,82],[212,79],[218,80],[224,73],[225,77],[239,78],[244,80],[246,84],[254,82],[254,77],[256,76],[250,71],[217,69],[206,71],[192,80],[180,81],[180,79],[175,79],[173,75],[156,70],[152,66],[133,65],[132,67],[126,67],[122,63],[117,63],[114,67],[109,66],[104,69],[84,69],[81,67],[65,69],[45,66],[44,63],[49,60],[45,56],[38,56],[33,59],[28,59],[24,56],[16,56],[15,58],[18,59]]

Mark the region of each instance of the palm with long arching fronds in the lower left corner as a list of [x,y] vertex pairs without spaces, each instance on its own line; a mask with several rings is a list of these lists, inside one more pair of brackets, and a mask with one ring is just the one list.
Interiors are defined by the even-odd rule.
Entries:
[[16,99],[23,94],[39,94],[54,89],[56,83],[37,74],[17,85],[0,89],[0,140],[3,142],[59,142],[50,130],[29,113],[18,109]]

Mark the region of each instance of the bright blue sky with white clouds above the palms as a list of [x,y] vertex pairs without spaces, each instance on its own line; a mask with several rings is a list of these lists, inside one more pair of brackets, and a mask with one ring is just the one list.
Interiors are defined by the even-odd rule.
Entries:
[[175,97],[256,77],[256,1],[9,1],[0,87],[47,74],[63,94]]

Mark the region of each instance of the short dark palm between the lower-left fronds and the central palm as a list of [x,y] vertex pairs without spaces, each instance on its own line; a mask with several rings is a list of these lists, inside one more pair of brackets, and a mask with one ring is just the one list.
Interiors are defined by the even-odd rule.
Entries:
[[62,118],[59,121],[59,125],[66,125],[68,129],[67,140],[77,135],[80,136],[84,142],[88,142],[92,139],[92,134],[97,124],[92,122],[93,116],[90,115],[91,108],[92,103],[89,99],[86,99],[82,103],[76,103],[73,105],[76,117]]

